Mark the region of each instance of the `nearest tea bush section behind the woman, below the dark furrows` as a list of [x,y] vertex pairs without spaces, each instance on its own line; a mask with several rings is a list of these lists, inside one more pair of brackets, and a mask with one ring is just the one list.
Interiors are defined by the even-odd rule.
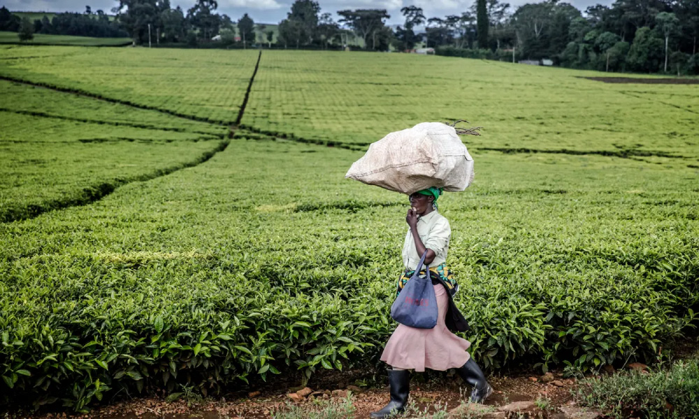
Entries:
[[[359,155],[233,140],[196,168],[3,224],[8,397],[82,409],[108,388],[212,392],[377,362],[405,202],[342,180]],[[479,157],[479,182],[441,207],[484,366],[652,358],[693,319],[691,179],[603,157]]]

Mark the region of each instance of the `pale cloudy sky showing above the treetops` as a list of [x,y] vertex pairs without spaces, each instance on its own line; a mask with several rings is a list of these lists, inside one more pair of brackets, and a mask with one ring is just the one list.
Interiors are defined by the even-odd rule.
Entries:
[[[171,0],[173,7],[183,10],[192,7],[195,0]],[[238,20],[243,13],[248,13],[255,22],[276,23],[287,16],[294,0],[218,0],[219,13],[226,13],[231,19]],[[354,8],[385,8],[391,15],[390,24],[403,23],[401,8],[415,4],[424,9],[426,17],[443,17],[458,15],[468,10],[475,0],[319,0],[322,13],[334,13],[337,10]],[[501,0],[503,1],[503,0]],[[512,6],[535,3],[535,0],[510,0]],[[568,0],[573,6],[585,10],[596,3],[609,5],[613,0]],[[0,5],[13,11],[46,12],[82,12],[89,4],[92,10],[102,9],[108,12],[118,4],[113,0],[0,0]]]

